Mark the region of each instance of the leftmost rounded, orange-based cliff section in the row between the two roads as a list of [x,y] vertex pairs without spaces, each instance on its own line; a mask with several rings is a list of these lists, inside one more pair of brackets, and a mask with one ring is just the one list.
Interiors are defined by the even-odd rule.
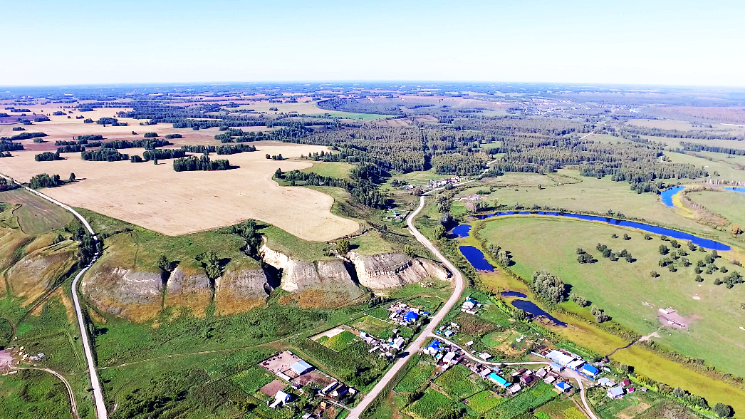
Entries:
[[98,309],[133,321],[160,312],[163,280],[160,273],[131,271],[109,265],[94,266],[80,290]]

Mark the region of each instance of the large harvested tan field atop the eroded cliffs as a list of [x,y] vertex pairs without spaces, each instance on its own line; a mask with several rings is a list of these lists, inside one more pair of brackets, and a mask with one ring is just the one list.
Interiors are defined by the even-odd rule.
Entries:
[[[214,143],[214,140],[213,140]],[[0,172],[19,181],[34,174],[70,172],[79,181],[44,193],[74,207],[128,221],[169,236],[212,230],[256,218],[308,241],[328,241],[354,233],[357,221],[330,211],[334,199],[309,188],[280,187],[272,180],[277,168],[308,168],[311,163],[267,160],[264,154],[298,157],[328,151],[318,145],[256,142],[257,151],[228,157],[227,171],[174,171],[171,160],[152,163],[92,162],[80,154],[66,160],[35,162],[34,151],[16,151],[0,159]],[[123,150],[142,154],[143,149]]]

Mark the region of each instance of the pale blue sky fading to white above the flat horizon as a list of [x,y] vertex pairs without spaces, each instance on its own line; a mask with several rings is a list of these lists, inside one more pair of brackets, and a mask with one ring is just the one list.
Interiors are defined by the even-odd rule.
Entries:
[[6,1],[0,85],[745,86],[738,1]]

